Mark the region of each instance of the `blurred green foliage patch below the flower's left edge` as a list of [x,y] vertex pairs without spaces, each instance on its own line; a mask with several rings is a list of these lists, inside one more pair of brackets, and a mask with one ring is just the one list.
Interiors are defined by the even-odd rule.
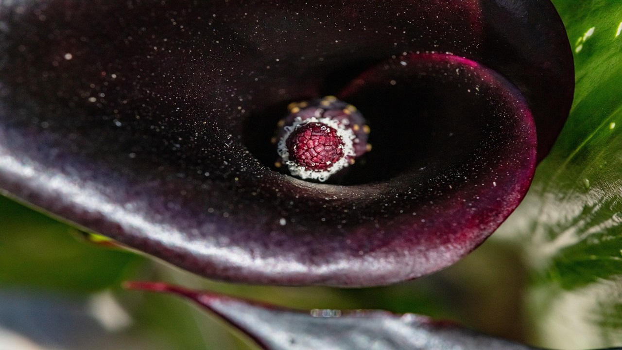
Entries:
[[80,233],[0,196],[0,283],[65,291],[119,285],[144,259],[86,245]]

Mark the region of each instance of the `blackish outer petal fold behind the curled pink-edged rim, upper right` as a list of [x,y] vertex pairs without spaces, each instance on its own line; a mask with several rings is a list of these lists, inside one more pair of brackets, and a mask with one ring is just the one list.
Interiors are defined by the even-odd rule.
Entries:
[[537,125],[538,160],[553,146],[574,93],[572,51],[550,1],[482,2],[486,19],[479,52],[466,55],[521,90]]

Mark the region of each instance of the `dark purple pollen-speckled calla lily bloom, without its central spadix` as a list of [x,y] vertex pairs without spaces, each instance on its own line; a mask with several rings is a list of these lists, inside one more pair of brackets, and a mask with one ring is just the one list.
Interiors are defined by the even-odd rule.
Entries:
[[[205,277],[384,285],[518,206],[573,93],[549,1],[0,5],[0,189]],[[274,167],[287,105],[335,95],[371,151]]]

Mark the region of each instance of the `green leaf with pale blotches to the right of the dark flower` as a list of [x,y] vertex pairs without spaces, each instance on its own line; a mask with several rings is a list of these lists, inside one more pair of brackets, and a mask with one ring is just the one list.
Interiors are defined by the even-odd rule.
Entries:
[[619,346],[622,2],[553,2],[575,57],[575,100],[554,149],[501,232],[521,237],[535,277],[527,308],[539,346]]

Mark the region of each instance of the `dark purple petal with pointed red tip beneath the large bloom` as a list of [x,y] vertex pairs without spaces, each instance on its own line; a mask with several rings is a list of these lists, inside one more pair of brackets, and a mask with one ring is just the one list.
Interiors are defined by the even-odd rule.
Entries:
[[137,290],[190,298],[248,334],[267,350],[535,350],[531,346],[433,321],[379,310],[287,310],[164,283],[130,282]]

